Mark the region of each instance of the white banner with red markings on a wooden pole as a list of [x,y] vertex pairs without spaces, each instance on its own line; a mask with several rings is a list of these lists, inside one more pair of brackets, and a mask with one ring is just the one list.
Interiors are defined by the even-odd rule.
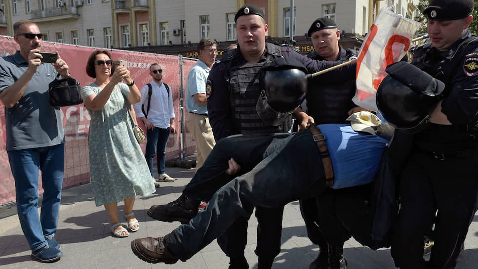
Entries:
[[357,61],[357,91],[354,103],[377,112],[375,94],[387,73],[387,65],[398,62],[408,51],[420,23],[381,8],[360,47]]

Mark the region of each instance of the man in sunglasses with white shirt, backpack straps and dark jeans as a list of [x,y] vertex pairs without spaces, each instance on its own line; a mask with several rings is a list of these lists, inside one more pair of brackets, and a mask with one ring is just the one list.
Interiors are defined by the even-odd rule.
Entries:
[[172,182],[175,179],[165,173],[165,162],[169,132],[175,133],[173,97],[169,86],[161,82],[162,67],[159,64],[154,63],[150,66],[150,75],[153,77],[153,81],[141,88],[141,101],[133,107],[136,116],[143,121],[148,129],[145,158],[151,176],[155,178],[153,158],[158,154],[158,181]]

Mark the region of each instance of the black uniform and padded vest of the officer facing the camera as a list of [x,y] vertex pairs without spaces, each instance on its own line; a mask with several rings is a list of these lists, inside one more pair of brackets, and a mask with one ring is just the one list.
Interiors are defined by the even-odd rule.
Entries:
[[[309,73],[317,72],[341,63],[308,59],[290,50],[288,47],[281,47],[280,55],[278,55],[276,48],[276,45],[266,44],[266,50],[259,61],[261,66],[273,58],[271,54],[274,57],[292,57],[304,64]],[[228,59],[226,55],[221,59],[220,63],[214,65],[209,73],[206,85],[209,122],[211,123],[216,141],[233,134],[263,133],[263,130],[267,130],[270,133],[287,132],[288,130],[286,130],[284,126],[270,127],[259,123],[256,119],[256,115],[254,115],[255,111],[250,109],[252,105],[255,106],[257,98],[259,97],[259,91],[257,91],[257,85],[255,85],[259,84],[258,77],[251,76],[251,74],[258,75],[259,65],[250,65],[250,63],[243,58],[239,49],[232,50],[232,52],[228,54],[234,55],[234,57]],[[230,61],[233,61],[233,64],[231,64]],[[242,72],[239,76],[237,73],[236,75],[232,74],[231,71],[237,70],[244,65],[249,65],[248,68],[253,70],[253,72]],[[342,81],[343,79],[355,79],[355,67],[355,65],[349,65],[329,72],[327,73],[327,79],[335,82]],[[242,90],[240,90],[240,87],[235,88],[236,78],[240,84],[249,85],[242,88]],[[247,90],[249,88],[252,90]],[[239,115],[240,113],[248,115],[250,120],[247,120],[247,116]],[[253,124],[248,125],[248,123]],[[252,167],[253,166],[248,167],[247,164],[241,164],[241,173],[246,173],[252,169]],[[207,182],[205,182],[205,184],[207,184]],[[197,194],[194,192],[194,189],[189,190],[188,188],[185,188],[183,191],[188,197],[195,198]],[[256,208],[256,217],[259,223],[256,254],[259,256],[259,261],[263,259],[267,262],[272,262],[280,252],[282,212],[283,207],[266,210]],[[261,228],[261,226],[267,226],[267,229]],[[240,256],[243,257],[247,239],[246,230],[247,220],[242,220],[241,222],[233,224],[228,232],[218,239],[219,245],[231,260],[233,258],[239,258]]]

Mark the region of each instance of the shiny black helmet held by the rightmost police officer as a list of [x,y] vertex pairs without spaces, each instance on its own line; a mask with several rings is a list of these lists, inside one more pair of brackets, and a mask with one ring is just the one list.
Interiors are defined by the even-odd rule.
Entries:
[[385,120],[415,134],[428,126],[429,111],[443,98],[444,84],[416,66],[397,62],[387,66],[377,90],[377,107]]

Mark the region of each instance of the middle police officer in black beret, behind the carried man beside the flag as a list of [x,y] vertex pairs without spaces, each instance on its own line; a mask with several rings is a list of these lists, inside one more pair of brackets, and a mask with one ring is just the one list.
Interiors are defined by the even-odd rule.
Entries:
[[[315,51],[309,53],[308,57],[314,60],[345,60],[357,59],[357,51],[342,48],[340,30],[335,22],[329,18],[315,20],[307,35],[311,38]],[[329,82],[322,78],[314,78],[309,81],[309,90],[306,100],[308,104],[307,114],[299,107],[296,118],[299,121],[301,130],[305,129],[310,122],[315,124],[346,123],[347,117],[355,112],[364,110],[352,102],[355,94],[355,78],[342,82]],[[327,189],[325,193],[330,195],[337,190]],[[341,191],[341,190],[338,190]],[[327,196],[329,197],[329,196]],[[334,217],[328,216],[319,221],[316,198],[300,200],[300,209],[304,218],[307,233],[310,240],[319,245],[318,257],[310,265],[310,269],[316,268],[345,268],[343,259],[344,242],[350,238],[349,233],[342,224]],[[326,240],[320,232],[317,224],[328,222],[327,226],[334,227],[334,231],[327,231]],[[328,244],[327,244],[328,242]],[[330,248],[330,249],[329,249]],[[329,249],[329,250],[328,250]],[[329,261],[330,260],[330,261]]]

